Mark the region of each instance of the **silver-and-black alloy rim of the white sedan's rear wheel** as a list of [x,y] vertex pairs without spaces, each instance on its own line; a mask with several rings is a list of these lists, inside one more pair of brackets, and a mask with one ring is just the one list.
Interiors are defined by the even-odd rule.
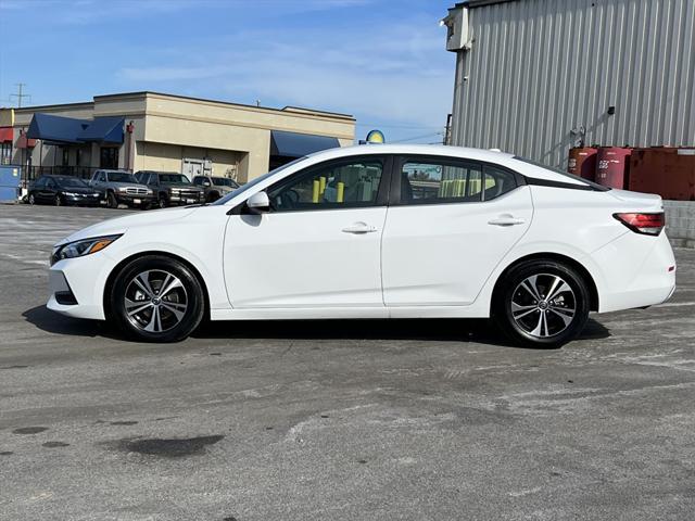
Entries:
[[577,313],[577,297],[559,276],[527,277],[511,295],[511,316],[527,334],[547,339],[565,331]]

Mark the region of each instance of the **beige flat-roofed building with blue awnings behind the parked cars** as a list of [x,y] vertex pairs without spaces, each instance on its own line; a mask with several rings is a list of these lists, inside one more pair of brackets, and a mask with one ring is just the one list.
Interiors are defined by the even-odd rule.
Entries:
[[207,173],[245,182],[296,156],[352,144],[350,115],[156,92],[0,110],[4,164],[89,177],[97,168]]

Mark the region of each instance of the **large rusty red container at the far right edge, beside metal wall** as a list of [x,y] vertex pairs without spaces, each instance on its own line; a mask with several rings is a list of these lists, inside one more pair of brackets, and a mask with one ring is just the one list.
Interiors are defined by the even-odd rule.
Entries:
[[630,190],[658,193],[672,201],[695,201],[695,149],[634,149]]

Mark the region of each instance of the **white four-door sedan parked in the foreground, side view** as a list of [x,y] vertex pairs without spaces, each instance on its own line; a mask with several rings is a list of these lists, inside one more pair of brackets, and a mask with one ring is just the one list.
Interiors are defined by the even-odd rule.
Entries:
[[86,228],[53,249],[48,307],[172,342],[211,320],[492,317],[554,346],[590,312],[665,302],[658,195],[501,152],[362,145],[210,205]]

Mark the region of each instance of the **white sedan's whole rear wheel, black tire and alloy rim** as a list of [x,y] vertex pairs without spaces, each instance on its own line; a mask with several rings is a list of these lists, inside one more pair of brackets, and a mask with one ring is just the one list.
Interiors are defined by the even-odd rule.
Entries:
[[515,266],[493,301],[494,319],[506,335],[533,347],[559,347],[574,340],[586,325],[589,310],[582,276],[555,260],[532,259]]

